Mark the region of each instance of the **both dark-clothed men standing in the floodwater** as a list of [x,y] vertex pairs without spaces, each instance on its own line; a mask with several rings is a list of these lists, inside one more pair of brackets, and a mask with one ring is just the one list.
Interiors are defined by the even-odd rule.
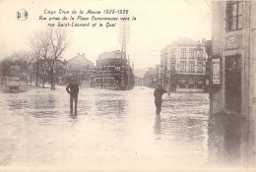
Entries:
[[[73,114],[73,102],[75,102],[75,114],[77,114],[78,107],[78,93],[79,85],[76,79],[72,79],[72,82],[66,87],[67,92],[70,94],[70,113]],[[158,86],[154,91],[155,104],[156,104],[156,114],[160,115],[161,110],[161,95],[166,93],[166,90],[162,86]]]

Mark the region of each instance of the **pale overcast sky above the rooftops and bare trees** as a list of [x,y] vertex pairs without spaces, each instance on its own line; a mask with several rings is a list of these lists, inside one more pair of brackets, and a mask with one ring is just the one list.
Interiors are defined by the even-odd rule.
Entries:
[[[26,21],[16,18],[21,9],[29,13]],[[74,9],[92,9],[101,10],[101,13],[104,9],[128,9],[129,16],[137,19],[129,22],[130,38],[127,44],[127,54],[134,61],[135,68],[159,64],[160,50],[178,36],[188,36],[194,40],[211,38],[211,10],[205,0],[2,0],[0,58],[14,51],[29,50],[32,34],[47,29],[46,22],[38,20],[44,9],[56,13],[59,9],[70,12]],[[70,45],[63,58],[68,60],[78,52],[85,53],[96,64],[99,53],[121,48],[119,25],[117,23],[115,28],[68,28]]]

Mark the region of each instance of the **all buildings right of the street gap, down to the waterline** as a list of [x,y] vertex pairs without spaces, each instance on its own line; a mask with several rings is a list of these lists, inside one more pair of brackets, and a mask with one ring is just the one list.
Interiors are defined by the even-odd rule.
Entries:
[[209,87],[211,113],[254,115],[256,109],[256,2],[213,1],[212,40],[179,38],[160,52],[145,86]]

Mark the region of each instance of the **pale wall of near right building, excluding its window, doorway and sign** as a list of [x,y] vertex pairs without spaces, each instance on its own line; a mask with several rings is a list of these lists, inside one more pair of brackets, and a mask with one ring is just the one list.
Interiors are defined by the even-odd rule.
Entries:
[[[243,28],[225,31],[225,1],[213,2],[213,54],[221,57],[222,84],[211,93],[211,113],[225,110],[225,59],[241,55],[241,114],[255,114],[256,108],[256,2],[243,1]],[[228,43],[234,39],[234,47]],[[255,118],[255,117],[254,117]]]

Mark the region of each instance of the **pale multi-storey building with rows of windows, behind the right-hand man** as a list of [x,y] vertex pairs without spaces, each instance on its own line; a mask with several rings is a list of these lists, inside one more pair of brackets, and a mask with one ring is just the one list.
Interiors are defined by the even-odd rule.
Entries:
[[160,53],[160,82],[170,91],[206,86],[205,41],[179,38]]

